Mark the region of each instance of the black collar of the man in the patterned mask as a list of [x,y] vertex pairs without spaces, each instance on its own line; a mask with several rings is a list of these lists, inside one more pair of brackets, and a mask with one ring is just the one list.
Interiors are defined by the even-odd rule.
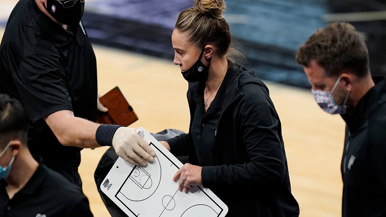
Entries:
[[379,97],[385,92],[386,79],[374,77],[373,86],[358,102],[352,115],[342,115],[342,118],[349,127],[350,134],[354,134],[359,127],[367,120],[372,111],[377,107]]

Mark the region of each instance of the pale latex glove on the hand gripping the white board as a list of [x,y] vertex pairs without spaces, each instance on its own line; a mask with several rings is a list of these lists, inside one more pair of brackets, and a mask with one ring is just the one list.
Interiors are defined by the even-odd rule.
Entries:
[[145,167],[147,166],[146,161],[154,162],[156,152],[137,134],[134,128],[119,127],[113,136],[112,143],[115,153],[130,164]]

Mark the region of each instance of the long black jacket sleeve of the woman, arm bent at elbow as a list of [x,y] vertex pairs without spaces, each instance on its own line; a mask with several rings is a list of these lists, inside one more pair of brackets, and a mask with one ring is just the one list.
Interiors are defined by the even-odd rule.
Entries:
[[235,110],[240,134],[250,162],[237,165],[207,166],[201,171],[204,187],[255,186],[271,188],[284,179],[285,161],[278,134],[279,121],[266,90],[249,84]]

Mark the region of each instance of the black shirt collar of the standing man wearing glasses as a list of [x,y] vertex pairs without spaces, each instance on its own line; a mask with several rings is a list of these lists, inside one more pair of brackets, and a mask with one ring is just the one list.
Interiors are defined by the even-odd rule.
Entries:
[[29,1],[31,13],[36,22],[42,27],[44,31],[50,34],[54,39],[57,39],[63,44],[68,37],[72,36],[70,31],[66,31],[59,24],[55,23],[51,18],[44,14],[36,5],[35,0]]

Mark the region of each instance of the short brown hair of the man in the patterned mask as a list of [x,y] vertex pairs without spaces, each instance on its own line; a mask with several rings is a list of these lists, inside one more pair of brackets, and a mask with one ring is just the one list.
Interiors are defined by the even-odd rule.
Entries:
[[351,70],[358,77],[370,73],[366,43],[346,22],[333,22],[318,29],[299,47],[296,61],[308,67],[311,60],[317,61],[330,77],[339,76],[342,70]]

